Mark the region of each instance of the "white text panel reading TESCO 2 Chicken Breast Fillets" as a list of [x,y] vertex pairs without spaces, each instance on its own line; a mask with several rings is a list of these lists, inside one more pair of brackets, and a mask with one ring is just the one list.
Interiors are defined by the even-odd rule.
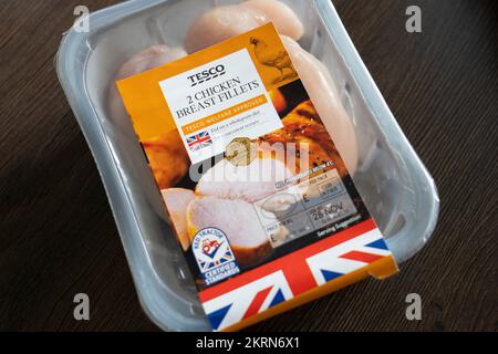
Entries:
[[194,164],[282,127],[247,49],[159,82]]

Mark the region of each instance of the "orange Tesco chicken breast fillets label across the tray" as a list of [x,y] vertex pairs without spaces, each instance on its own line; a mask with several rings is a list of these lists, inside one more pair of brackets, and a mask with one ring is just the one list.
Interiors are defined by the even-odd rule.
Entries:
[[397,271],[273,24],[117,87],[215,331]]

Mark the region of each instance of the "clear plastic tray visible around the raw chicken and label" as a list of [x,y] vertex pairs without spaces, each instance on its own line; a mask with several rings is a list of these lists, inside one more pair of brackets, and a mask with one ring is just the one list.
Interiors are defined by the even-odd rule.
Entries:
[[[211,7],[238,1],[135,0],[92,13],[90,32],[65,33],[58,73],[101,173],[144,310],[163,330],[210,330],[160,195],[131,122],[108,114],[108,85],[135,53],[181,45],[189,24]],[[438,215],[430,175],[407,142],[330,0],[286,0],[304,24],[300,44],[339,87],[359,137],[354,183],[398,263],[429,239]]]

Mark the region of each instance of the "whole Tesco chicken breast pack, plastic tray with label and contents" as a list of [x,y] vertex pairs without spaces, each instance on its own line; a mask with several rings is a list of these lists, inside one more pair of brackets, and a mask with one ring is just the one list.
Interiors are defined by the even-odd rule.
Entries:
[[144,0],[91,23],[58,72],[164,330],[238,330],[427,241],[434,183],[329,1]]

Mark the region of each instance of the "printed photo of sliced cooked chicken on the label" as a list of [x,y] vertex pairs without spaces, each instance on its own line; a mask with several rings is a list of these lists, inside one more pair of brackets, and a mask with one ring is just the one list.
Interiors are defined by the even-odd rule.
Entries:
[[[314,242],[338,221],[350,225],[367,217],[302,82],[272,92],[282,128],[252,140],[232,139],[224,155],[208,160],[214,162],[211,166],[204,164],[208,167],[200,178],[191,179],[186,188],[162,190],[194,273],[199,251],[191,244],[203,230],[222,232],[237,263],[230,272],[237,269],[239,273]],[[215,278],[207,282],[206,277],[197,278],[200,289],[215,282]]]

